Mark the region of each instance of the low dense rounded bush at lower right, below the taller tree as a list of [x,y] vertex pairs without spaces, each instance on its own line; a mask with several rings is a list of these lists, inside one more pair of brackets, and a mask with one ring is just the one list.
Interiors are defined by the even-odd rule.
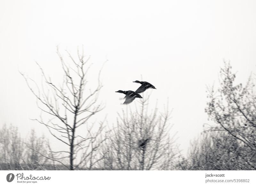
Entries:
[[190,144],[184,170],[250,170],[246,148],[226,131],[205,131]]

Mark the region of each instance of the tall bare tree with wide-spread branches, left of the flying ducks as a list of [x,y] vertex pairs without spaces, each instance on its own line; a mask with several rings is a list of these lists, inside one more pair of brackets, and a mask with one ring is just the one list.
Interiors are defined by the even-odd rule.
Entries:
[[[64,61],[58,47],[57,54],[64,73],[62,85],[58,86],[57,83],[52,82],[50,77],[46,77],[38,63],[43,78],[41,89],[35,81],[21,73],[28,88],[37,99],[38,108],[50,118],[46,120],[41,114],[39,119],[34,120],[47,127],[53,137],[68,146],[68,150],[51,151],[51,155],[41,155],[70,170],[92,169],[102,158],[98,157],[96,150],[105,140],[101,135],[104,121],[100,122],[95,132],[93,132],[94,124],[88,124],[90,118],[104,108],[104,105],[97,101],[102,88],[101,70],[98,74],[97,86],[92,91],[87,88],[87,73],[91,66],[88,65],[90,57],[85,59],[84,51],[80,55],[77,50],[78,61],[76,62],[75,58],[67,52],[71,61],[71,64],[68,64]],[[33,88],[32,82],[35,83],[36,88]]]

